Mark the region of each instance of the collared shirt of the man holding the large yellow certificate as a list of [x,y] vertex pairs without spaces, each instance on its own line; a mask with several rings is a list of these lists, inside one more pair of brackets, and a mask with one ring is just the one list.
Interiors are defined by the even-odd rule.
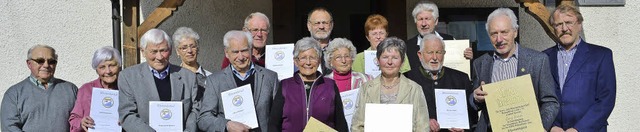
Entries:
[[514,78],[518,72],[518,43],[514,44],[516,48],[512,56],[502,59],[497,52],[493,53],[493,72],[491,73],[491,82],[498,82],[510,78]]

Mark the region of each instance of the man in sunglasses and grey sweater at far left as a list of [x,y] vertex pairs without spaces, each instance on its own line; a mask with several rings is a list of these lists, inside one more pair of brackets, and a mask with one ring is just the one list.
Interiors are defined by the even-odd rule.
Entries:
[[36,45],[27,52],[31,75],[11,86],[2,99],[2,131],[69,131],[69,113],[78,87],[53,77],[56,50]]

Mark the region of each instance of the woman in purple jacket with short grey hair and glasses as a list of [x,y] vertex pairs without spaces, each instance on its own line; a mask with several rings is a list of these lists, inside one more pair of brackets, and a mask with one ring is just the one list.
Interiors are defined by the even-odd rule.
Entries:
[[311,117],[340,132],[348,131],[335,82],[317,71],[321,54],[319,42],[311,37],[296,42],[293,56],[298,71],[281,81],[269,131],[301,132]]

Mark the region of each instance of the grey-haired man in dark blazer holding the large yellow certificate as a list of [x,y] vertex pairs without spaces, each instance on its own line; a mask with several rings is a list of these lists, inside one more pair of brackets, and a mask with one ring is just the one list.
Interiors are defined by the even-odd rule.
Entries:
[[486,28],[496,51],[486,53],[473,61],[473,71],[476,73],[473,80],[475,90],[469,103],[474,109],[482,110],[476,131],[492,130],[485,104],[487,92],[482,91],[482,85],[516,76],[531,74],[545,130],[551,128],[551,123],[558,113],[559,104],[549,70],[549,59],[544,53],[522,47],[515,42],[518,36],[517,21],[516,15],[508,8],[498,8],[487,18]]

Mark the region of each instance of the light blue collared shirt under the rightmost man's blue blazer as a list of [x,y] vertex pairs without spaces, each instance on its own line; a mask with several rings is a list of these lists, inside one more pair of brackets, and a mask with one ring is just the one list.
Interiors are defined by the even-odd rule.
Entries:
[[558,44],[558,81],[560,83],[560,92],[564,88],[564,81],[567,79],[567,74],[569,73],[569,67],[571,66],[571,61],[573,61],[573,56],[576,54],[576,50],[578,50],[578,44],[580,44],[582,39],[578,40],[576,46],[573,48],[566,50],[562,45]]

